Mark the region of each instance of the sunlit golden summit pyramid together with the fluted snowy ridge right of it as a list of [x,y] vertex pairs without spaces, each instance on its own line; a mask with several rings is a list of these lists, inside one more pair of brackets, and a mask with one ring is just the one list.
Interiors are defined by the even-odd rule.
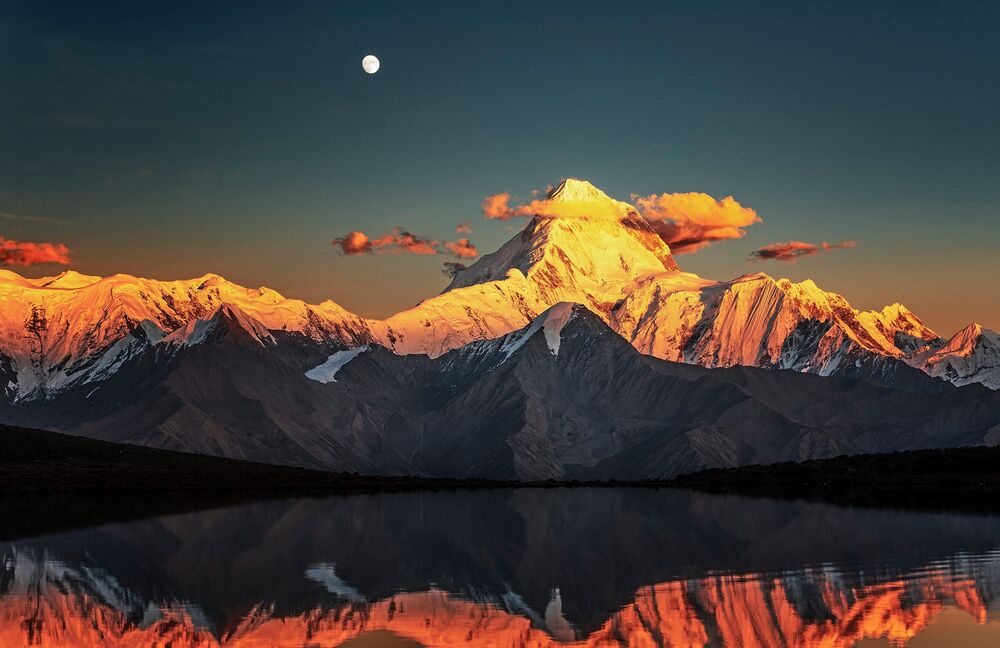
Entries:
[[[435,357],[571,301],[659,358],[941,387],[915,376],[905,359],[943,340],[901,304],[858,311],[812,281],[763,273],[703,279],[677,269],[669,248],[647,238],[652,230],[634,208],[589,183],[566,180],[550,196],[554,213],[535,216],[440,295],[390,317],[379,341],[397,353]],[[564,215],[563,196],[571,197]]]

